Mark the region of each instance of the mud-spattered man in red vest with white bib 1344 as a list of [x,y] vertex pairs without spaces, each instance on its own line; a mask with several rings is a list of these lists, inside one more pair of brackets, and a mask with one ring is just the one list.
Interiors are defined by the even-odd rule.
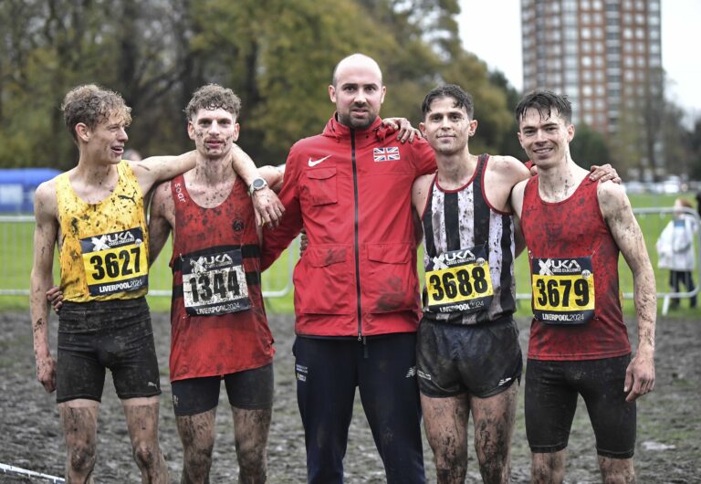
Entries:
[[267,479],[274,350],[251,196],[281,183],[282,172],[263,167],[263,178],[250,187],[236,176],[228,156],[240,106],[231,89],[194,92],[185,113],[195,167],[159,185],[151,205],[154,258],[173,231],[170,367],[183,483],[209,482],[222,380],[234,415],[239,482]]

